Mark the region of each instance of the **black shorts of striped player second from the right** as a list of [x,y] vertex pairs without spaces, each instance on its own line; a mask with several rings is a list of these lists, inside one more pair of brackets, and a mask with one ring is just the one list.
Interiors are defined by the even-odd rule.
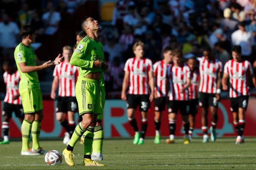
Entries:
[[218,107],[215,94],[199,92],[199,106],[200,107]]

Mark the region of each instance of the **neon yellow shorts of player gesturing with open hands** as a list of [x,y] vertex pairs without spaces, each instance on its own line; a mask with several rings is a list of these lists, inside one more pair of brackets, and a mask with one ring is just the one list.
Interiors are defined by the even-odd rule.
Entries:
[[23,88],[19,91],[24,114],[43,110],[43,97],[40,89]]

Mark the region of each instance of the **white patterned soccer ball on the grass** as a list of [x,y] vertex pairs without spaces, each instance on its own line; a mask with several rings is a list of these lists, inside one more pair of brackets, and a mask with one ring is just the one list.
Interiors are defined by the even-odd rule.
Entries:
[[62,155],[57,150],[49,150],[44,157],[47,165],[60,165],[62,162]]

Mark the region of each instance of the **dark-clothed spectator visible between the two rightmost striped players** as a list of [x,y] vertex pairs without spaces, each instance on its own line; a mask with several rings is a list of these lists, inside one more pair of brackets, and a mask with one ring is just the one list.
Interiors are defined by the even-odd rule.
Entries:
[[216,54],[215,57],[218,59],[222,65],[225,65],[228,60],[230,60],[230,55],[227,50],[224,49],[224,44],[222,42],[217,42],[215,44]]

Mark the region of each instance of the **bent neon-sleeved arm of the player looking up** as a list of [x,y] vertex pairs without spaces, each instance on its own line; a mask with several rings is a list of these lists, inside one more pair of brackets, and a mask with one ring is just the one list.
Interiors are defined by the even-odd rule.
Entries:
[[76,50],[72,54],[70,59],[70,64],[73,66],[81,67],[81,68],[99,68],[102,65],[102,62],[97,61],[88,61],[82,59],[86,53],[87,43],[80,41],[77,44]]

